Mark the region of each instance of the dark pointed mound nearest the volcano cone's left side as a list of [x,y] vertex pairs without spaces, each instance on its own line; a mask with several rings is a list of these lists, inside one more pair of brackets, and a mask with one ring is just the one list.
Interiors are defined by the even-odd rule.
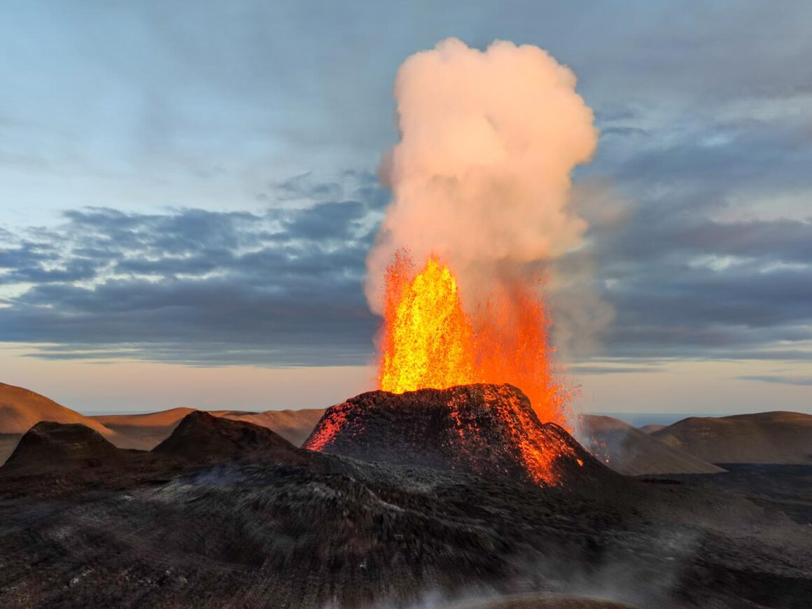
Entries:
[[266,427],[196,410],[184,417],[171,436],[153,448],[153,453],[212,463],[242,456],[273,459],[294,450],[292,443]]

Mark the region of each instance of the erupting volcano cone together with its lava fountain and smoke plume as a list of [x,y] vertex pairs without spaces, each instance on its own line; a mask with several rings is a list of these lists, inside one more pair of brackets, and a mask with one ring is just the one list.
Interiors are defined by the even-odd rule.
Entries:
[[542,297],[586,230],[570,174],[598,133],[575,84],[545,51],[506,41],[449,38],[400,67],[400,142],[380,171],[393,198],[365,287],[383,318],[382,391],[330,408],[305,447],[545,485],[593,467],[565,431]]

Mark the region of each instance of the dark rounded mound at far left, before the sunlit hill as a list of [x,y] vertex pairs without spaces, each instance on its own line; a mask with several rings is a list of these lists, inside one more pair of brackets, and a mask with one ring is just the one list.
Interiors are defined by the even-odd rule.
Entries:
[[86,425],[41,421],[19,439],[2,469],[28,472],[106,467],[123,459],[122,451]]

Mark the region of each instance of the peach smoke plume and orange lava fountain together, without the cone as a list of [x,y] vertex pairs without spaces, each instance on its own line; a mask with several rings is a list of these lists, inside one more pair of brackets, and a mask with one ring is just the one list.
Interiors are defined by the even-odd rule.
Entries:
[[[575,85],[572,71],[545,51],[508,41],[480,51],[449,38],[400,67],[400,142],[380,168],[393,199],[367,258],[365,287],[370,308],[384,317],[382,388],[510,382],[529,395],[543,421],[565,424],[568,395],[553,378],[551,324],[538,283],[549,285],[555,271],[548,264],[540,278],[537,263],[572,252],[587,227],[570,208],[570,174],[590,159],[598,132]],[[408,253],[405,264],[396,255],[401,250]],[[436,285],[425,288],[430,298],[415,296],[409,282],[417,277],[425,284],[431,261],[450,270],[456,283],[446,282],[453,287],[447,294]],[[429,266],[418,274],[424,264]],[[462,315],[472,327],[454,334],[442,312],[424,303],[453,304],[456,298],[462,312],[449,319],[464,329],[469,322],[460,321]],[[440,362],[414,353],[411,330],[406,349],[412,352],[399,352],[403,324],[413,327],[418,319],[440,328],[427,345],[460,355],[455,382],[428,380],[425,370]],[[454,335],[473,348],[448,345]],[[529,351],[532,361],[525,357]],[[425,378],[401,387],[404,375]]]

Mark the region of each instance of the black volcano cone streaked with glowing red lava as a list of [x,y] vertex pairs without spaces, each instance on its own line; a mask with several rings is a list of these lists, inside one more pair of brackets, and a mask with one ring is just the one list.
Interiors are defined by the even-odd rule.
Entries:
[[511,385],[369,391],[329,408],[303,447],[542,485],[615,476]]

